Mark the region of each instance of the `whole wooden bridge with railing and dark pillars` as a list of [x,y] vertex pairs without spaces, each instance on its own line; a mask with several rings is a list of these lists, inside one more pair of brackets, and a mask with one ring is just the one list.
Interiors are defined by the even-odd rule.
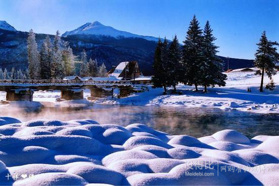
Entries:
[[112,96],[119,89],[119,97],[133,92],[130,81],[80,81],[80,80],[0,80],[0,91],[6,91],[6,100],[33,99],[34,91],[60,90],[65,100],[83,99],[83,90],[90,89],[91,97]]

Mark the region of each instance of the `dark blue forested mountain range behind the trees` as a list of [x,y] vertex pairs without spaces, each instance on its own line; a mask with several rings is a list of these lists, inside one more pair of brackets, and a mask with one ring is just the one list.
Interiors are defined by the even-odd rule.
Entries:
[[[96,26],[96,24],[98,25],[100,23],[94,22],[92,24]],[[85,27],[88,26],[89,25]],[[107,28],[107,26],[99,26],[101,28]],[[73,49],[73,52],[76,56],[79,57],[83,49],[85,49],[88,59],[97,59],[99,65],[104,62],[108,70],[112,66],[118,65],[122,61],[136,60],[138,61],[140,69],[144,75],[152,75],[154,51],[157,45],[155,41],[143,38],[146,36],[132,33],[130,34],[133,36],[129,37],[128,34],[123,34],[128,32],[123,31],[119,32],[122,33],[122,35],[112,33],[112,35],[84,34],[82,30],[85,29],[85,27],[81,29],[77,28],[77,33],[75,33],[73,30],[73,32],[66,32],[67,34],[63,34],[62,36],[62,41],[69,42],[69,46]],[[5,28],[7,28],[7,26],[5,26]],[[88,27],[88,29],[90,30],[91,27]],[[93,28],[93,30],[95,30],[95,28]],[[0,28],[0,68],[27,68],[27,37],[28,32]],[[41,47],[41,44],[45,38],[46,34],[36,34],[36,41],[39,48]],[[53,39],[54,35],[50,35],[50,38]],[[227,69],[227,59],[225,57],[221,58],[224,60],[224,69]],[[252,67],[253,60],[230,58],[229,66],[233,69]]]

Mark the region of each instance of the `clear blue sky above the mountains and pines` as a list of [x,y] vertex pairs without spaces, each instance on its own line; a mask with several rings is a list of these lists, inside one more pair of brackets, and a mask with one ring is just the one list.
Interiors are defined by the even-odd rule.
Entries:
[[279,42],[279,0],[0,0],[0,20],[50,34],[99,21],[141,35],[177,34],[182,43],[194,14],[201,27],[210,21],[221,56],[253,59],[263,30]]

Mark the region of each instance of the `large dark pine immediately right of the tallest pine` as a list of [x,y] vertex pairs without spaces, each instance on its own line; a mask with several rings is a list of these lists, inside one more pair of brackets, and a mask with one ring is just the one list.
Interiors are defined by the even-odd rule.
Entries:
[[206,21],[203,30],[203,42],[202,42],[202,64],[200,66],[201,71],[201,83],[204,87],[203,92],[207,92],[208,86],[225,86],[227,75],[222,73],[222,60],[216,55],[218,47],[213,43],[214,38],[209,21]]

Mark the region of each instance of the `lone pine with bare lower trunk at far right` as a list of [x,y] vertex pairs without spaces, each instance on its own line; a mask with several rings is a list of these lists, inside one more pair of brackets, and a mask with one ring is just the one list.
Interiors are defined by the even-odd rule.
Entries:
[[259,68],[256,74],[261,75],[260,92],[263,92],[263,78],[264,73],[271,79],[272,75],[275,75],[275,62],[279,60],[279,54],[277,48],[279,46],[277,42],[271,42],[267,40],[265,31],[262,33],[260,42],[257,44],[258,49],[255,53],[256,59],[254,65]]

